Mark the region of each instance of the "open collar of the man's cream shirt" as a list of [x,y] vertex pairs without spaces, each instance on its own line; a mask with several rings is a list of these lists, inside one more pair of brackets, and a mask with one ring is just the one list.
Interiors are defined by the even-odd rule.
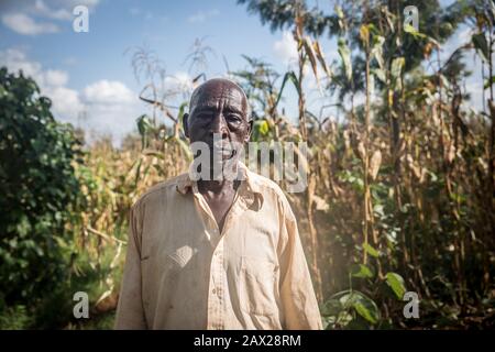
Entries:
[[[246,207],[261,208],[263,205],[263,194],[261,187],[255,179],[253,173],[242,162],[238,162],[238,175],[241,179],[241,186],[239,187],[240,196],[245,200]],[[179,194],[186,195],[189,191],[194,191],[195,180],[190,178],[189,173],[182,174],[177,178],[176,189]],[[196,187],[197,189],[197,187]]]

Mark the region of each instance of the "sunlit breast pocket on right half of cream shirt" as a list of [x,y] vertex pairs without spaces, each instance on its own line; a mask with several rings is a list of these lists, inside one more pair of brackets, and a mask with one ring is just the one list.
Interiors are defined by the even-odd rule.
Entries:
[[257,257],[242,256],[239,279],[241,310],[251,315],[272,316],[277,311],[278,265]]

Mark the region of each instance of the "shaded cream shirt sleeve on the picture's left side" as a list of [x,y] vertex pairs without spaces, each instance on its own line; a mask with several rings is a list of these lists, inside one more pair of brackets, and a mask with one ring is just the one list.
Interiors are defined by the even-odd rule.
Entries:
[[138,210],[139,204],[130,211],[128,253],[114,324],[117,330],[147,328],[141,287],[141,241],[138,241],[141,239],[142,217]]

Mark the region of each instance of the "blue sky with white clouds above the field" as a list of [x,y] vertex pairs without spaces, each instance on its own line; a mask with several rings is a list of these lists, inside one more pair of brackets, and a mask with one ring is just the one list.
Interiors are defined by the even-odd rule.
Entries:
[[[89,8],[88,33],[73,31],[77,4]],[[289,33],[272,33],[234,0],[2,0],[0,20],[0,65],[33,76],[53,99],[58,119],[112,133],[117,142],[147,111],[136,98],[143,82],[131,66],[130,53],[138,46],[155,52],[170,87],[185,90],[194,73],[184,61],[196,38],[206,37],[215,52],[208,55],[208,77],[226,74],[223,57],[231,70],[244,67],[241,54],[248,54],[284,72],[295,54]],[[466,37],[465,31],[462,35],[447,46]],[[322,44],[329,58],[337,56],[334,42]],[[314,80],[307,85],[315,92],[309,106],[318,109],[324,98]],[[288,90],[285,98],[288,114],[295,116],[295,92]]]

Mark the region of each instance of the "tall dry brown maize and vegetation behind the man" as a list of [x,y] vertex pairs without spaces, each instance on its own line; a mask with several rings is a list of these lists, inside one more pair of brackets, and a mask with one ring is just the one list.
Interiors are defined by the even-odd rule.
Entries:
[[[403,26],[403,1],[346,1],[329,14],[296,0],[239,2],[272,29],[289,29],[299,44],[294,70],[277,73],[246,56],[244,70],[227,74],[251,99],[253,141],[309,145],[302,161],[308,188],[287,196],[324,324],[493,328],[494,2],[441,9],[436,1],[417,1],[418,31]],[[441,44],[461,24],[470,28],[471,41],[447,56]],[[338,51],[339,61],[323,56],[323,36],[337,40],[338,47],[324,50]],[[191,67],[204,67],[209,51],[198,41],[188,56]],[[483,67],[479,112],[465,89],[468,54]],[[165,74],[152,52],[133,52],[132,64],[153,114],[138,119],[140,135],[130,135],[121,148],[102,139],[76,166],[87,200],[72,227],[77,251],[86,253],[91,270],[106,270],[91,297],[96,312],[111,311],[117,301],[129,207],[190,161],[182,131],[188,97],[164,88]],[[340,119],[307,109],[308,75],[329,101],[338,98]],[[198,69],[193,85],[206,78],[207,70]],[[289,86],[297,91],[297,117],[279,108]],[[403,316],[407,290],[420,297],[419,319]]]

